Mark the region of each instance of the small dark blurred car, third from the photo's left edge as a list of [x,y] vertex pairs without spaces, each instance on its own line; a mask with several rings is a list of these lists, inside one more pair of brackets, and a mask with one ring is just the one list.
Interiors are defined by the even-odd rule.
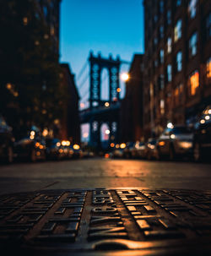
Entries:
[[62,159],[62,147],[60,139],[46,139],[46,158],[60,160]]

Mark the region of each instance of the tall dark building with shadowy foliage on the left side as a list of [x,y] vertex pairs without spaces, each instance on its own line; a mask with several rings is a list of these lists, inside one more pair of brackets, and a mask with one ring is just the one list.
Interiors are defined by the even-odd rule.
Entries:
[[0,114],[14,129],[59,116],[60,0],[0,3]]

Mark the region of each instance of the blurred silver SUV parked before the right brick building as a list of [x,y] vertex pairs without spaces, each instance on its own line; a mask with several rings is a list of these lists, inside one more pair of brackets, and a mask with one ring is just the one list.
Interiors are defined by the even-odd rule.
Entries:
[[159,158],[167,156],[173,160],[176,156],[191,156],[192,141],[192,130],[186,126],[172,125],[171,128],[165,128],[157,142]]

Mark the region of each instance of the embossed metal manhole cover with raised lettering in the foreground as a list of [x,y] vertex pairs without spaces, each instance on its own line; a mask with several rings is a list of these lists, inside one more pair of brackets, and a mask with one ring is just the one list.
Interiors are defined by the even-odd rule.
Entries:
[[96,188],[0,196],[14,255],[210,255],[211,191]]

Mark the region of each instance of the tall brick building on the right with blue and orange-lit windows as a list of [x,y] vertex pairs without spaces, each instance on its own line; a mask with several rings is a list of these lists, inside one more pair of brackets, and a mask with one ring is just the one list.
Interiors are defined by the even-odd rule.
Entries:
[[168,122],[194,123],[211,104],[211,1],[143,2],[143,129],[159,135]]

